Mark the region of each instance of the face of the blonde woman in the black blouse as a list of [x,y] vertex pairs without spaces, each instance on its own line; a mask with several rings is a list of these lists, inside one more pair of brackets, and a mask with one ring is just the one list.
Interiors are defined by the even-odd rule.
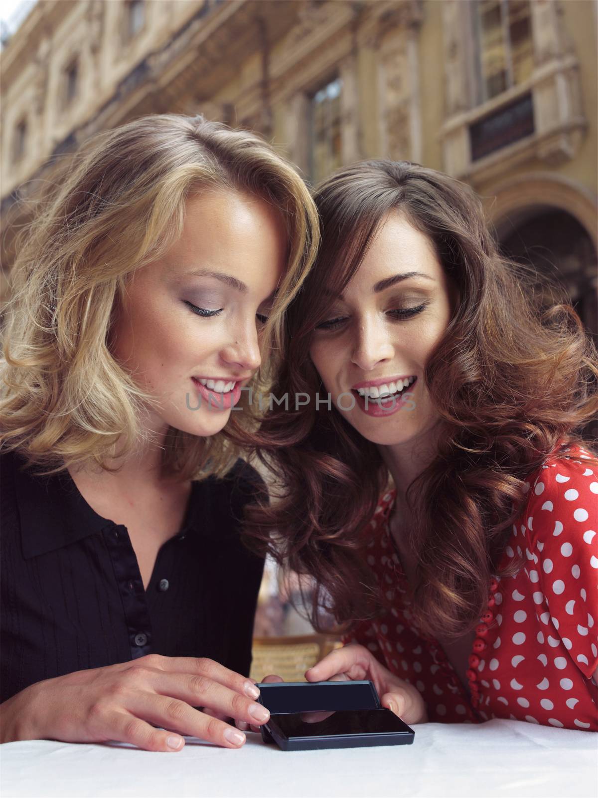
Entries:
[[277,212],[245,193],[195,196],[186,211],[180,239],[133,276],[110,348],[155,396],[155,431],[209,436],[260,365],[286,236]]

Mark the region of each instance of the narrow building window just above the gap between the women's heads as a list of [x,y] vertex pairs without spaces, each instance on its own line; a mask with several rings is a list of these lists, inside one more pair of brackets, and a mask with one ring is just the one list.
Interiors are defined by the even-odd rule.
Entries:
[[313,183],[342,163],[340,94],[343,81],[335,77],[309,98],[309,176]]

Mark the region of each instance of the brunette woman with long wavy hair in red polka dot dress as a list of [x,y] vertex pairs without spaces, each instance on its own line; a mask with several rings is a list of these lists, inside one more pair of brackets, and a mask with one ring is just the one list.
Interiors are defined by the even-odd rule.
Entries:
[[315,199],[273,389],[310,401],[272,404],[258,449],[285,489],[248,508],[348,624],[307,678],[370,678],[408,723],[598,728],[595,346],[457,180],[368,161]]

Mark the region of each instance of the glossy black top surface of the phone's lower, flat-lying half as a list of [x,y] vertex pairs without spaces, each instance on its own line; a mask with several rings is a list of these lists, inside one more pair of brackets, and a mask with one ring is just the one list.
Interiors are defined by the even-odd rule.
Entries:
[[337,734],[411,733],[390,709],[276,715],[270,721],[285,737],[320,737]]

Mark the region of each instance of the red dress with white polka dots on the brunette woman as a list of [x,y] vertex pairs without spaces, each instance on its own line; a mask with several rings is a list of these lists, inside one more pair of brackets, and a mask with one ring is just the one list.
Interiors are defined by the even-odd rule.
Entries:
[[551,456],[525,484],[529,500],[513,524],[501,568],[522,559],[517,575],[489,585],[467,670],[469,691],[442,646],[410,611],[407,579],[388,529],[395,494],[370,522],[368,563],[391,609],[362,622],[344,642],[367,646],[399,678],[415,685],[430,721],[506,717],[565,729],[598,730],[598,474],[584,448]]

